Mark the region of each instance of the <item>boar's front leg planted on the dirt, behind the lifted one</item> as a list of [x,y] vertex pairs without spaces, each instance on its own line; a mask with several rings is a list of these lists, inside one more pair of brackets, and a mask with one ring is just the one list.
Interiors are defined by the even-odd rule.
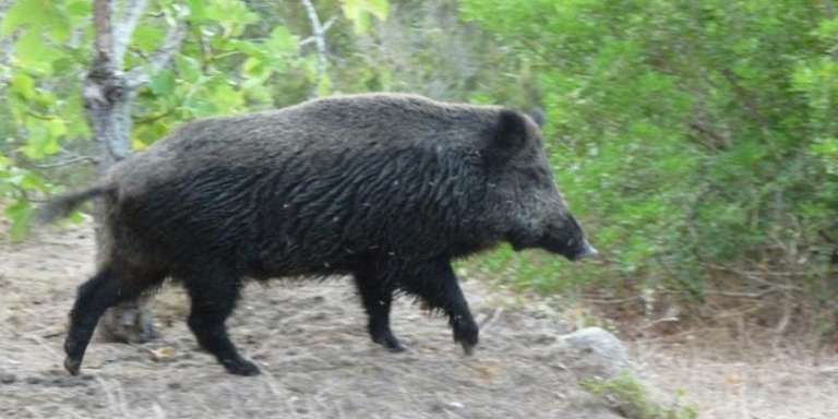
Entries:
[[393,302],[393,286],[385,283],[381,275],[370,270],[355,274],[355,284],[361,295],[363,308],[369,316],[367,330],[372,342],[392,352],[403,352],[405,347],[390,330],[390,307]]

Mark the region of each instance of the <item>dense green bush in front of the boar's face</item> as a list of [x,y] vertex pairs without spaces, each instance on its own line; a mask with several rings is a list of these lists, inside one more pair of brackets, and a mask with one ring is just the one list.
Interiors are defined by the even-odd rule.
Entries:
[[606,254],[539,276],[702,298],[708,266],[758,265],[822,290],[821,234],[838,232],[838,23],[825,7],[463,0],[465,21],[538,74],[556,181]]

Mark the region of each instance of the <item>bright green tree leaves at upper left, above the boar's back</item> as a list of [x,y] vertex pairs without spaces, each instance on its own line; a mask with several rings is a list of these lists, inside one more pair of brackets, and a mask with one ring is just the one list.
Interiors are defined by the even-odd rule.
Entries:
[[[88,1],[17,0],[0,23],[0,39],[16,37],[8,65],[0,65],[9,74],[0,91],[0,201],[12,239],[27,231],[33,197],[60,187],[62,173],[40,167],[89,153],[80,80],[92,50],[91,17]],[[190,31],[173,63],[149,74],[136,96],[135,149],[190,119],[272,107],[273,93],[284,93],[278,74],[313,80],[298,37],[282,25],[248,32],[260,17],[239,0],[152,2],[131,38],[127,69],[147,68],[176,19],[188,20]]]

